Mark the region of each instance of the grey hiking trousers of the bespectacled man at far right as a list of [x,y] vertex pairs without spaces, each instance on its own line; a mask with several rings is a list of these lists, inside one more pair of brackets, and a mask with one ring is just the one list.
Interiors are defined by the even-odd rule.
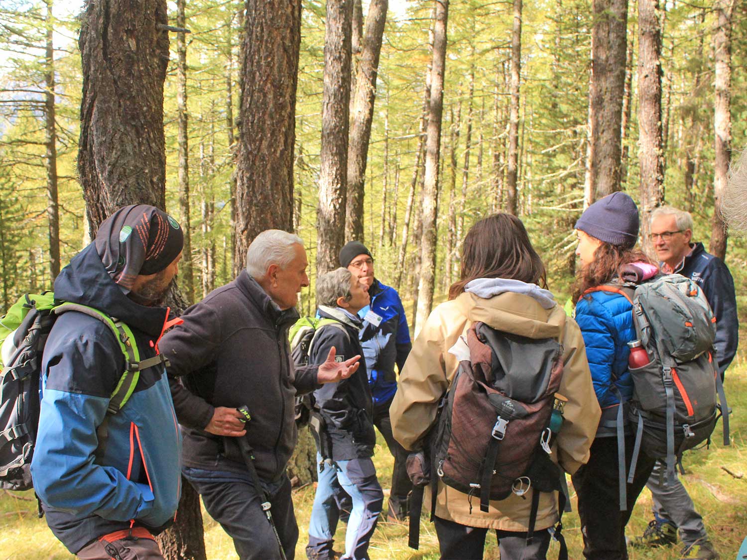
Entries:
[[654,515],[660,520],[675,523],[683,544],[691,545],[695,541],[707,539],[703,517],[695,511],[695,504],[679,477],[668,484],[663,484],[662,480],[666,482],[666,462],[659,460],[654,464],[654,470],[646,482],[646,487],[654,498]]

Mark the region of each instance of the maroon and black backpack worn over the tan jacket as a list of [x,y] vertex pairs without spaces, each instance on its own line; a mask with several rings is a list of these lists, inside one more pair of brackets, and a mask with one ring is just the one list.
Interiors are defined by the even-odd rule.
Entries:
[[459,356],[459,370],[441,402],[430,452],[433,469],[445,485],[479,497],[481,511],[488,511],[489,500],[533,491],[531,538],[540,492],[559,491],[560,511],[565,508],[565,476],[551,459],[562,423],[562,405],[556,403],[565,400],[556,395],[562,346],[553,338],[522,337],[485,323],[471,326],[466,345],[468,354]]

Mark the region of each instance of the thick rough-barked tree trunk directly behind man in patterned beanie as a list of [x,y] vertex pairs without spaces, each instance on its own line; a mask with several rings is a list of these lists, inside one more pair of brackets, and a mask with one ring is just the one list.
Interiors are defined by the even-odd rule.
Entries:
[[[93,237],[116,208],[165,208],[166,0],[88,0],[79,46],[83,71],[78,172]],[[173,308],[182,309],[173,293]],[[199,497],[182,479],[176,525],[158,537],[167,560],[205,560]]]

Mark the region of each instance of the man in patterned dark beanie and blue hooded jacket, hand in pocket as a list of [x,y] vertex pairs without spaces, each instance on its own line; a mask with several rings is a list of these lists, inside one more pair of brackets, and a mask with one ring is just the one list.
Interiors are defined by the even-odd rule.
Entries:
[[[182,446],[158,352],[179,320],[160,302],[183,238],[164,211],[125,206],[55,280],[55,298],[75,309],[59,315],[44,347],[31,473],[49,528],[81,559],[163,558],[152,535],[179,504]],[[114,413],[131,370],[131,394]]]

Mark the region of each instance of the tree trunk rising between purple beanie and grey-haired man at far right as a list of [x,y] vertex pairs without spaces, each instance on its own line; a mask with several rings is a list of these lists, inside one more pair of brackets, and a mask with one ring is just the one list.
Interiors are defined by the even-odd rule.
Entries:
[[659,1],[638,0],[638,141],[641,170],[641,236],[643,249],[654,254],[648,237],[651,212],[661,205],[664,152],[661,125],[661,26]]

